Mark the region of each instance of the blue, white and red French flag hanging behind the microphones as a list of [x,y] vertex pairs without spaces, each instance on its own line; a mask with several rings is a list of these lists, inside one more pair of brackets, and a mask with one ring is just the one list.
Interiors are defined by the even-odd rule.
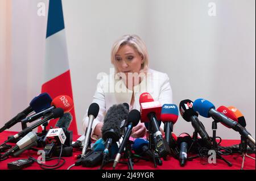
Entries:
[[[68,95],[73,99],[61,0],[49,0],[42,92],[47,92],[52,98]],[[70,113],[73,120],[68,130],[77,134],[75,108]],[[56,121],[51,120],[47,129],[54,127]],[[42,127],[38,127],[38,131],[41,132]]]

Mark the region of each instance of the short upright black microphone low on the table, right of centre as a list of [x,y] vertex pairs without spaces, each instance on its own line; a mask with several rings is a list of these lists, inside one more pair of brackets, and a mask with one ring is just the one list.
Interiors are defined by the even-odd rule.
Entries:
[[184,166],[185,162],[187,161],[188,148],[192,144],[192,138],[189,136],[188,133],[181,133],[179,137],[177,137],[177,144],[180,148],[180,166]]

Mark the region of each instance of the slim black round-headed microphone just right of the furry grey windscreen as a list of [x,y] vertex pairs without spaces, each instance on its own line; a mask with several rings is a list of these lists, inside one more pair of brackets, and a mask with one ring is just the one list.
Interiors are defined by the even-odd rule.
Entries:
[[119,147],[118,153],[115,156],[113,169],[115,168],[115,166],[117,166],[117,163],[121,158],[121,153],[123,152],[123,149],[125,149],[127,141],[131,136],[131,130],[133,129],[133,127],[138,125],[140,119],[141,119],[141,113],[138,110],[131,110],[131,112],[129,112],[129,115],[127,117],[127,125],[126,125],[127,129],[125,131],[125,136],[123,136],[123,140]]

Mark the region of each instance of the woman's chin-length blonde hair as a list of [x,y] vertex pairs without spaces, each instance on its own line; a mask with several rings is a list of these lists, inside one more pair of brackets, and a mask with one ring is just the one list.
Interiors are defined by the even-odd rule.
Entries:
[[120,47],[123,45],[130,45],[133,47],[137,52],[143,57],[143,63],[141,71],[146,71],[148,68],[148,53],[145,43],[138,35],[124,35],[120,37],[115,43],[113,44],[111,50],[111,62],[113,65],[115,61],[115,54],[119,50]]

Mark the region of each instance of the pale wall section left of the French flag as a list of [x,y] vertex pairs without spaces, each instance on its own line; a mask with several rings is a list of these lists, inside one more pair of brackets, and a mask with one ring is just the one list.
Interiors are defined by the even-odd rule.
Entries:
[[[47,0],[0,0],[0,18],[4,25],[0,33],[0,127],[29,106],[40,94],[43,83],[46,16],[38,16],[38,3]],[[7,11],[8,10],[8,11]],[[5,16],[2,16],[4,14]],[[5,54],[1,54],[5,52]],[[4,56],[5,55],[5,56]],[[30,125],[30,124],[28,124]],[[20,131],[20,124],[10,131]]]

